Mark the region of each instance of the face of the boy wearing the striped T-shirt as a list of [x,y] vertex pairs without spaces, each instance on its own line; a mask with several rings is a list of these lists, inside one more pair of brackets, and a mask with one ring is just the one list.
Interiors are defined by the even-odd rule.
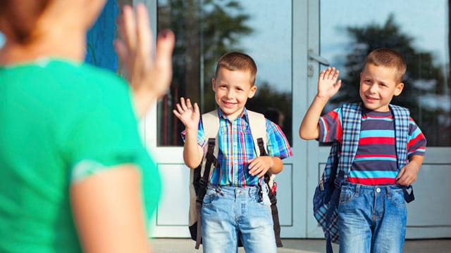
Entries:
[[393,67],[367,64],[360,74],[360,98],[369,110],[387,112],[393,96],[402,92],[404,84],[396,79]]

